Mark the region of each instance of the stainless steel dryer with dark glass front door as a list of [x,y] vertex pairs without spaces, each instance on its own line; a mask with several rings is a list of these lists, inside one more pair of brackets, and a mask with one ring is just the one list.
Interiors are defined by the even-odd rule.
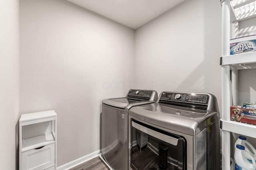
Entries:
[[219,170],[220,113],[212,94],[162,92],[129,110],[133,170]]

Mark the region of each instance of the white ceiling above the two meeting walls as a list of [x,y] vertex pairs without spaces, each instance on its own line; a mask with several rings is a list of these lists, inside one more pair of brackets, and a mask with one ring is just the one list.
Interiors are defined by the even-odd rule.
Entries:
[[67,0],[136,29],[184,0]]

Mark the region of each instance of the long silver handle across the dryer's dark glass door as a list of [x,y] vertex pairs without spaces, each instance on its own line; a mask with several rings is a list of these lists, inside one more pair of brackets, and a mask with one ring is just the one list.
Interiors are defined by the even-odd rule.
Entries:
[[136,129],[148,134],[148,135],[151,135],[152,137],[155,137],[157,139],[160,139],[164,142],[167,142],[167,143],[170,143],[172,145],[175,145],[177,146],[178,144],[178,139],[174,138],[174,137],[170,137],[168,135],[164,135],[162,133],[159,133],[157,131],[154,131],[152,129],[149,129],[147,127],[144,127],[142,125],[139,125],[138,123],[135,123],[134,121],[132,121],[132,127],[135,127]]

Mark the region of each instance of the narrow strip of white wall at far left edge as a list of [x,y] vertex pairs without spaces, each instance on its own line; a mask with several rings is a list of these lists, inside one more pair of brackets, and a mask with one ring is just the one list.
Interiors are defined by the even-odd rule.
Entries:
[[0,165],[15,170],[19,119],[19,0],[0,1]]

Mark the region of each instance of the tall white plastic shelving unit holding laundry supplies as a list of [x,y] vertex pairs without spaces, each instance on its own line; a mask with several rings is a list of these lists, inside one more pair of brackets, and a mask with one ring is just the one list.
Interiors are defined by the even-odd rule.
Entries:
[[[230,5],[232,4],[232,5]],[[230,132],[256,138],[256,125],[248,125],[230,121],[230,106],[236,104],[238,70],[256,68],[256,52],[248,52],[230,55],[230,35],[237,38],[238,23],[249,18],[256,17],[256,7],[254,0],[221,0],[222,5],[222,115],[220,127],[222,129],[222,170],[230,169]],[[232,28],[230,29],[230,25]],[[255,23],[252,23],[252,26]],[[230,34],[232,30],[232,34]],[[236,33],[235,31],[236,30]],[[230,70],[232,70],[232,86],[230,85]],[[234,75],[234,78],[233,78]],[[234,79],[236,81],[234,81]]]

